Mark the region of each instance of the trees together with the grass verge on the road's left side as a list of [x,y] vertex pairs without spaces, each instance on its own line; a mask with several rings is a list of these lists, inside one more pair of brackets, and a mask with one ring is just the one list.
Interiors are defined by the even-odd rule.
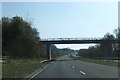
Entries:
[[[44,67],[49,62],[46,46],[40,41],[37,29],[29,21],[20,16],[2,17],[2,56],[7,63],[2,64],[3,78],[25,78],[35,70]],[[52,58],[63,55],[52,45]]]

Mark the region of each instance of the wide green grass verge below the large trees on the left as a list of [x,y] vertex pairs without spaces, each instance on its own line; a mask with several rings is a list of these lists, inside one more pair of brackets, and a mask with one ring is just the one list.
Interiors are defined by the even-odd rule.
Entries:
[[37,59],[11,59],[9,63],[2,64],[3,78],[24,78],[38,68],[42,68],[40,60]]

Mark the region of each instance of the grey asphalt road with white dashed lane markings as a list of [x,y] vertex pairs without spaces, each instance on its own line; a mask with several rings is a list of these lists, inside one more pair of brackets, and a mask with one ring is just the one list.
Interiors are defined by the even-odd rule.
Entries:
[[50,63],[34,78],[118,78],[118,68],[72,60],[65,55]]

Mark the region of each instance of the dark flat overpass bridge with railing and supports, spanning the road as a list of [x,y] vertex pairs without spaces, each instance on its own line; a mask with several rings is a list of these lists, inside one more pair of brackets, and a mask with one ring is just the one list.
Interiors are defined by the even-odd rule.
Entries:
[[101,53],[112,54],[112,43],[117,40],[106,40],[102,38],[48,38],[42,39],[42,42],[47,47],[48,59],[51,60],[51,44],[100,44]]

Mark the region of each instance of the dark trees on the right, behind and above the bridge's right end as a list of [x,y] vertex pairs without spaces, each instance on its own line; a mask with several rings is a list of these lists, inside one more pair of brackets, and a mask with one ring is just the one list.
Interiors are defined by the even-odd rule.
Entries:
[[[78,55],[87,58],[118,58],[119,43],[109,43],[110,40],[117,40],[117,35],[118,31],[116,31],[116,37],[110,33],[105,34],[102,38],[103,40],[106,40],[105,43],[90,46],[88,49],[80,49]],[[109,47],[111,48],[110,50],[108,49]]]

